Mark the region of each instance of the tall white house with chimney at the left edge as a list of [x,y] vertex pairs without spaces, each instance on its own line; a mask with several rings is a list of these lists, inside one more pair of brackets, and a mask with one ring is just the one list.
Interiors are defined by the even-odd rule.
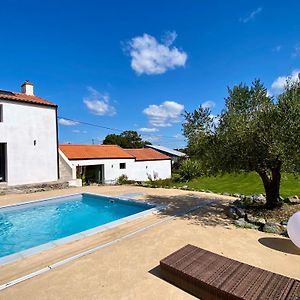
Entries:
[[58,180],[57,106],[25,82],[0,90],[0,185]]

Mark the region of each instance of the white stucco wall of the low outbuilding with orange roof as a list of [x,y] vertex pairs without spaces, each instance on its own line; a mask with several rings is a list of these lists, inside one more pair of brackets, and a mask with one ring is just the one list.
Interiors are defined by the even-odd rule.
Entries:
[[[127,175],[129,180],[147,181],[148,174],[154,179],[166,179],[171,177],[171,161],[135,161],[135,159],[86,159],[71,160],[74,166],[104,165],[105,183],[115,183],[121,175]],[[126,163],[126,169],[120,169],[120,163]]]

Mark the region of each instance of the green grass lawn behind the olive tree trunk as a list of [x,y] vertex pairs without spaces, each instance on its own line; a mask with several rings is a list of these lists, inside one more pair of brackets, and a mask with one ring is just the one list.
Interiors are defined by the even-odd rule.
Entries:
[[[215,177],[200,177],[186,183],[174,182],[170,179],[159,180],[152,183],[156,186],[187,186],[188,189],[209,190],[216,193],[230,194],[263,194],[262,181],[257,173],[225,174]],[[283,197],[300,196],[300,177],[292,174],[282,174],[280,194]]]

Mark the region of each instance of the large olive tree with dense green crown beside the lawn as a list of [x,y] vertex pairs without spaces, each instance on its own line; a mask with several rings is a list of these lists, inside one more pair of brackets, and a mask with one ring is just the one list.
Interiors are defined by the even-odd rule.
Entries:
[[228,88],[218,118],[202,107],[185,112],[183,133],[209,172],[257,172],[274,208],[282,171],[300,172],[300,84],[288,81],[276,99],[259,80]]

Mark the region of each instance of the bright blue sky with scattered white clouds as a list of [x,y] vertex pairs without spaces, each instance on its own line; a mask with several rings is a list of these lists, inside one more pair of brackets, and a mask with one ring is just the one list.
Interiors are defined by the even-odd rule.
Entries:
[[[227,86],[254,78],[276,95],[300,69],[296,0],[10,0],[1,11],[0,89],[28,79],[63,118],[172,148],[185,144],[184,110],[209,105],[216,115]],[[61,143],[114,132],[60,123]]]

